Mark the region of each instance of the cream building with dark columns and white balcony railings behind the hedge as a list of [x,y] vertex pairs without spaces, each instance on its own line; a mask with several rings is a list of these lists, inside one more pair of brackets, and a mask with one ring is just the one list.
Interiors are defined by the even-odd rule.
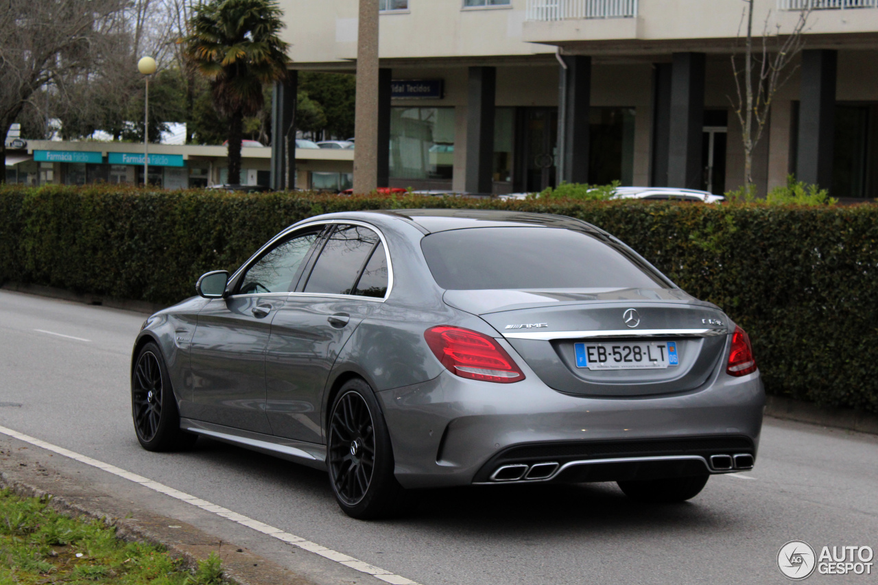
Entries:
[[[280,5],[293,72],[356,71],[357,0]],[[745,5],[381,0],[379,154],[386,146],[389,156],[379,156],[379,181],[496,193],[562,180],[734,189],[745,156],[731,56],[744,48]],[[753,179],[760,193],[792,173],[835,197],[874,198],[878,2],[755,0],[754,31],[772,33],[770,51],[809,7]],[[276,92],[278,135],[294,132],[295,85],[293,75]],[[284,155],[275,152],[275,177]]]

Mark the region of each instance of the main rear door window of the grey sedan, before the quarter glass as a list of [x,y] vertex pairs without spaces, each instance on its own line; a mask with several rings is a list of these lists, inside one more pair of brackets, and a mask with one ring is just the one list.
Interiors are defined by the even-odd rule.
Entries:
[[314,264],[305,292],[350,294],[377,242],[378,234],[368,227],[336,227]]

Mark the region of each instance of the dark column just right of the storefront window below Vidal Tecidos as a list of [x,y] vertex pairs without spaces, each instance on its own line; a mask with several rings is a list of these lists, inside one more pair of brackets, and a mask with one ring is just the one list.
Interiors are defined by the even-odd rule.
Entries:
[[467,88],[466,191],[493,191],[494,99],[497,69],[471,67]]

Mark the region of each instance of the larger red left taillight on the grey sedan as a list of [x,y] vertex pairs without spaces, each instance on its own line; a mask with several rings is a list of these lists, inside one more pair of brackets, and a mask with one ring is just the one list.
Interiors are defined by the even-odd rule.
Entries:
[[524,379],[509,354],[491,337],[470,329],[440,325],[424,331],[435,357],[461,378],[510,384]]

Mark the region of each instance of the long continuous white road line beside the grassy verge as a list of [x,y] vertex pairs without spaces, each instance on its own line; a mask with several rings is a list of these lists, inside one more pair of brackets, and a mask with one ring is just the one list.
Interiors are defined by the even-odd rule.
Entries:
[[216,504],[212,504],[211,502],[206,502],[205,500],[201,500],[194,495],[185,494],[184,492],[178,491],[174,488],[169,488],[168,486],[162,485],[161,483],[158,483],[156,481],[148,480],[147,478],[137,475],[136,473],[127,472],[126,470],[121,469],[117,466],[112,466],[109,463],[104,463],[103,461],[98,461],[97,459],[91,459],[90,457],[80,455],[79,453],[76,453],[74,451],[69,451],[68,449],[64,449],[63,447],[47,443],[46,441],[41,441],[38,438],[29,437],[27,435],[19,433],[17,430],[0,427],[0,434],[16,438],[19,441],[24,441],[25,443],[32,444],[42,449],[46,449],[47,451],[53,451],[54,453],[58,453],[59,455],[68,457],[69,459],[74,459],[88,466],[97,467],[98,469],[102,469],[105,472],[112,473],[113,475],[118,475],[121,478],[133,481],[134,483],[138,483],[144,488],[152,489],[156,492],[159,492],[160,494],[169,495],[172,498],[176,498],[181,502],[189,503],[200,509],[212,512],[217,516],[227,518],[232,522],[247,526],[248,528],[252,528],[255,531],[262,532],[263,534],[267,534],[270,537],[277,538],[278,540],[282,540],[285,543],[289,543],[293,546],[298,546],[300,549],[308,551],[309,553],[319,554],[325,559],[335,561],[340,565],[350,567],[355,571],[359,571],[360,573],[371,574],[373,577],[380,579],[381,581],[385,581],[385,583],[391,583],[391,585],[419,585],[415,581],[406,579],[405,577],[399,576],[398,574],[392,574],[390,571],[385,571],[385,569],[383,568],[374,567],[369,563],[363,562],[362,560],[355,559],[354,557],[349,557],[347,554],[339,553],[337,551],[327,548],[326,546],[320,546],[316,543],[306,540],[305,538],[295,536],[293,534],[290,534],[289,532],[284,532],[279,528],[275,528],[274,526],[263,524],[258,520],[248,518],[247,516],[243,516],[241,514],[238,514],[237,512],[233,512],[230,509],[225,509],[221,506],[217,506]]

